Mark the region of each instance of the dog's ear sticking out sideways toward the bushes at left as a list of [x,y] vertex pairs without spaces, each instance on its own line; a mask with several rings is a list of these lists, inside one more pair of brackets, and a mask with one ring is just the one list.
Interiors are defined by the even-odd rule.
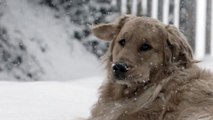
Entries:
[[92,27],[92,32],[99,39],[110,41],[120,32],[125,22],[133,17],[135,16],[125,15],[119,17],[112,23],[95,25]]

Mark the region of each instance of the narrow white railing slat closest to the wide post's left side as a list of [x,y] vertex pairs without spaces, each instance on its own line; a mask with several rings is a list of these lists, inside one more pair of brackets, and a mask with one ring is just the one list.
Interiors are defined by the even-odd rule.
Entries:
[[174,5],[174,25],[179,27],[179,11],[180,11],[180,0],[175,0]]

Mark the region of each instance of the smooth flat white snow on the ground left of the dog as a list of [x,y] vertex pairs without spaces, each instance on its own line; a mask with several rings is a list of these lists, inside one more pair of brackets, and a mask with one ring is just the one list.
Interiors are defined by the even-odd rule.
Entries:
[[76,81],[0,82],[0,120],[87,118],[102,77]]

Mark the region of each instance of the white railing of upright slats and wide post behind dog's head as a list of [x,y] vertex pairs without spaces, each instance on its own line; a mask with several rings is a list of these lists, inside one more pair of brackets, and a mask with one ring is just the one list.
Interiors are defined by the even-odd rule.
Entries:
[[[116,5],[119,0],[112,0],[113,5]],[[179,27],[180,22],[180,1],[174,0],[174,13],[173,13],[173,24],[176,27]],[[207,0],[195,0],[196,1],[196,23],[195,23],[195,56],[196,58],[202,59],[206,54],[206,32],[210,32],[210,55],[213,57],[213,0],[211,1],[211,17],[206,16],[206,7]],[[120,0],[121,2],[121,14],[127,14],[127,0]],[[131,2],[131,12],[128,14],[137,15],[138,12],[142,13],[142,15],[148,14],[148,0],[130,0]],[[165,24],[169,23],[169,8],[170,8],[170,0],[163,0],[162,6],[162,22]],[[140,4],[140,5],[139,5]],[[141,7],[141,11],[138,11],[138,6]],[[159,0],[152,0],[151,3],[151,14],[150,16],[158,19],[158,6]],[[211,30],[206,31],[206,19],[211,19]],[[190,22],[190,21],[189,21]]]

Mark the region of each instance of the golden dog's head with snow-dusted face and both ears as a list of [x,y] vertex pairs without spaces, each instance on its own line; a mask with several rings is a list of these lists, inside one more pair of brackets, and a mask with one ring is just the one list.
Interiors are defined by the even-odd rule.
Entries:
[[110,79],[118,83],[147,82],[160,71],[189,67],[193,61],[184,35],[152,18],[122,16],[93,26],[92,31],[98,38],[112,41],[107,69]]

